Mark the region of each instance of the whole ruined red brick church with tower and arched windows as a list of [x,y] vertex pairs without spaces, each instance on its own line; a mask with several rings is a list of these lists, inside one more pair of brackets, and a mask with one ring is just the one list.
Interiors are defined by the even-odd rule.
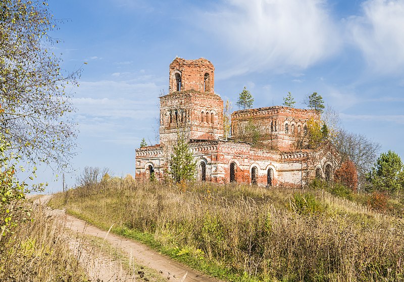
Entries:
[[[200,58],[170,64],[169,93],[160,97],[160,144],[136,149],[136,179],[163,179],[178,132],[197,162],[197,179],[216,183],[302,187],[314,177],[331,179],[336,153],[331,145],[296,149],[305,142],[317,111],[270,106],[234,111],[231,138],[224,137],[223,100],[214,91],[215,68]],[[259,129],[252,146],[245,128]],[[307,140],[306,140],[307,141]]]

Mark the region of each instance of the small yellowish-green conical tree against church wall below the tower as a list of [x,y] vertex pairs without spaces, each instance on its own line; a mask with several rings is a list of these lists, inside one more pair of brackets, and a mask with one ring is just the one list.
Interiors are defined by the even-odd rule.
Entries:
[[170,157],[169,172],[174,182],[193,180],[196,173],[196,161],[189,150],[183,133],[178,132],[177,142]]

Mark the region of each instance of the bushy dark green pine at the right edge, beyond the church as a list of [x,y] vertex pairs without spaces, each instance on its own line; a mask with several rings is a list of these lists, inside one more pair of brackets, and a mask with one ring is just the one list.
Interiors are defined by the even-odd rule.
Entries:
[[381,153],[368,175],[374,190],[396,194],[402,190],[404,177],[401,158],[389,150]]

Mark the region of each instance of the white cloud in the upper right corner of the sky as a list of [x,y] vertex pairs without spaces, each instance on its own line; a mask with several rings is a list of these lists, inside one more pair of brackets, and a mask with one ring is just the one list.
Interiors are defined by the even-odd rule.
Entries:
[[347,21],[351,42],[373,71],[399,73],[404,69],[404,1],[369,0],[362,8],[362,16]]

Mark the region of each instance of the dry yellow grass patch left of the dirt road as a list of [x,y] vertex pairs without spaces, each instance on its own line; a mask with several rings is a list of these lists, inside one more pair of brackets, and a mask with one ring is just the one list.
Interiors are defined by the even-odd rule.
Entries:
[[29,218],[32,221],[17,218],[19,225],[2,238],[0,281],[87,281],[69,250],[64,225],[39,207],[33,209]]

